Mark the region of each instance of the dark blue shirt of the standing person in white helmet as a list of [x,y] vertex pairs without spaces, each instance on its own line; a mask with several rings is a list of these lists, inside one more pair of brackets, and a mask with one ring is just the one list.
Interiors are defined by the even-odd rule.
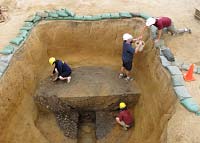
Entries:
[[124,62],[132,62],[135,49],[132,47],[132,44],[123,42],[123,51],[122,51],[122,60]]

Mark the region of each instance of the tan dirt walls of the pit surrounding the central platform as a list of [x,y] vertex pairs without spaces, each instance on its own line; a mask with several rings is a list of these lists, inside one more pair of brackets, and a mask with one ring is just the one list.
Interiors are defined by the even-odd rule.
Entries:
[[[141,19],[40,23],[0,81],[0,142],[48,142],[35,128],[37,109],[31,101],[40,79],[47,77],[51,70],[47,67],[48,57],[62,58],[72,67],[98,65],[119,69],[122,34],[130,32],[138,36],[142,25]],[[116,125],[98,142],[160,142],[175,96],[170,76],[161,67],[147,36],[145,33],[145,50],[134,58],[133,74],[142,92],[138,105],[131,109],[135,111],[135,128],[124,132]],[[19,121],[23,123],[18,124]],[[26,123],[31,127],[25,128]]]

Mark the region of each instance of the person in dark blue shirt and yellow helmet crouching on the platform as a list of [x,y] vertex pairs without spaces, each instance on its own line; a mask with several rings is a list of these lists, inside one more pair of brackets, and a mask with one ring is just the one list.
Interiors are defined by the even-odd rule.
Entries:
[[67,80],[67,83],[71,81],[71,73],[72,70],[64,61],[57,60],[54,57],[49,58],[50,65],[54,65],[54,70],[52,76],[56,76],[53,81],[58,79],[60,80]]

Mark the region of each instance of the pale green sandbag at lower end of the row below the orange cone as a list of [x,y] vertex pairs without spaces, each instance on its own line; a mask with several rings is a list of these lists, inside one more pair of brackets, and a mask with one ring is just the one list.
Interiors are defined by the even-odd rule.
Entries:
[[198,113],[200,110],[199,105],[192,97],[181,100],[181,104],[190,112]]

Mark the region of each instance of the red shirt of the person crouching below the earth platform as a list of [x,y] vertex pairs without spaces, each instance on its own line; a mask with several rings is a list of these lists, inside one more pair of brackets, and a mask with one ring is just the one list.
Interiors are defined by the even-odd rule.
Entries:
[[133,123],[133,118],[128,110],[123,110],[119,112],[119,120],[124,121],[126,125],[131,125]]

